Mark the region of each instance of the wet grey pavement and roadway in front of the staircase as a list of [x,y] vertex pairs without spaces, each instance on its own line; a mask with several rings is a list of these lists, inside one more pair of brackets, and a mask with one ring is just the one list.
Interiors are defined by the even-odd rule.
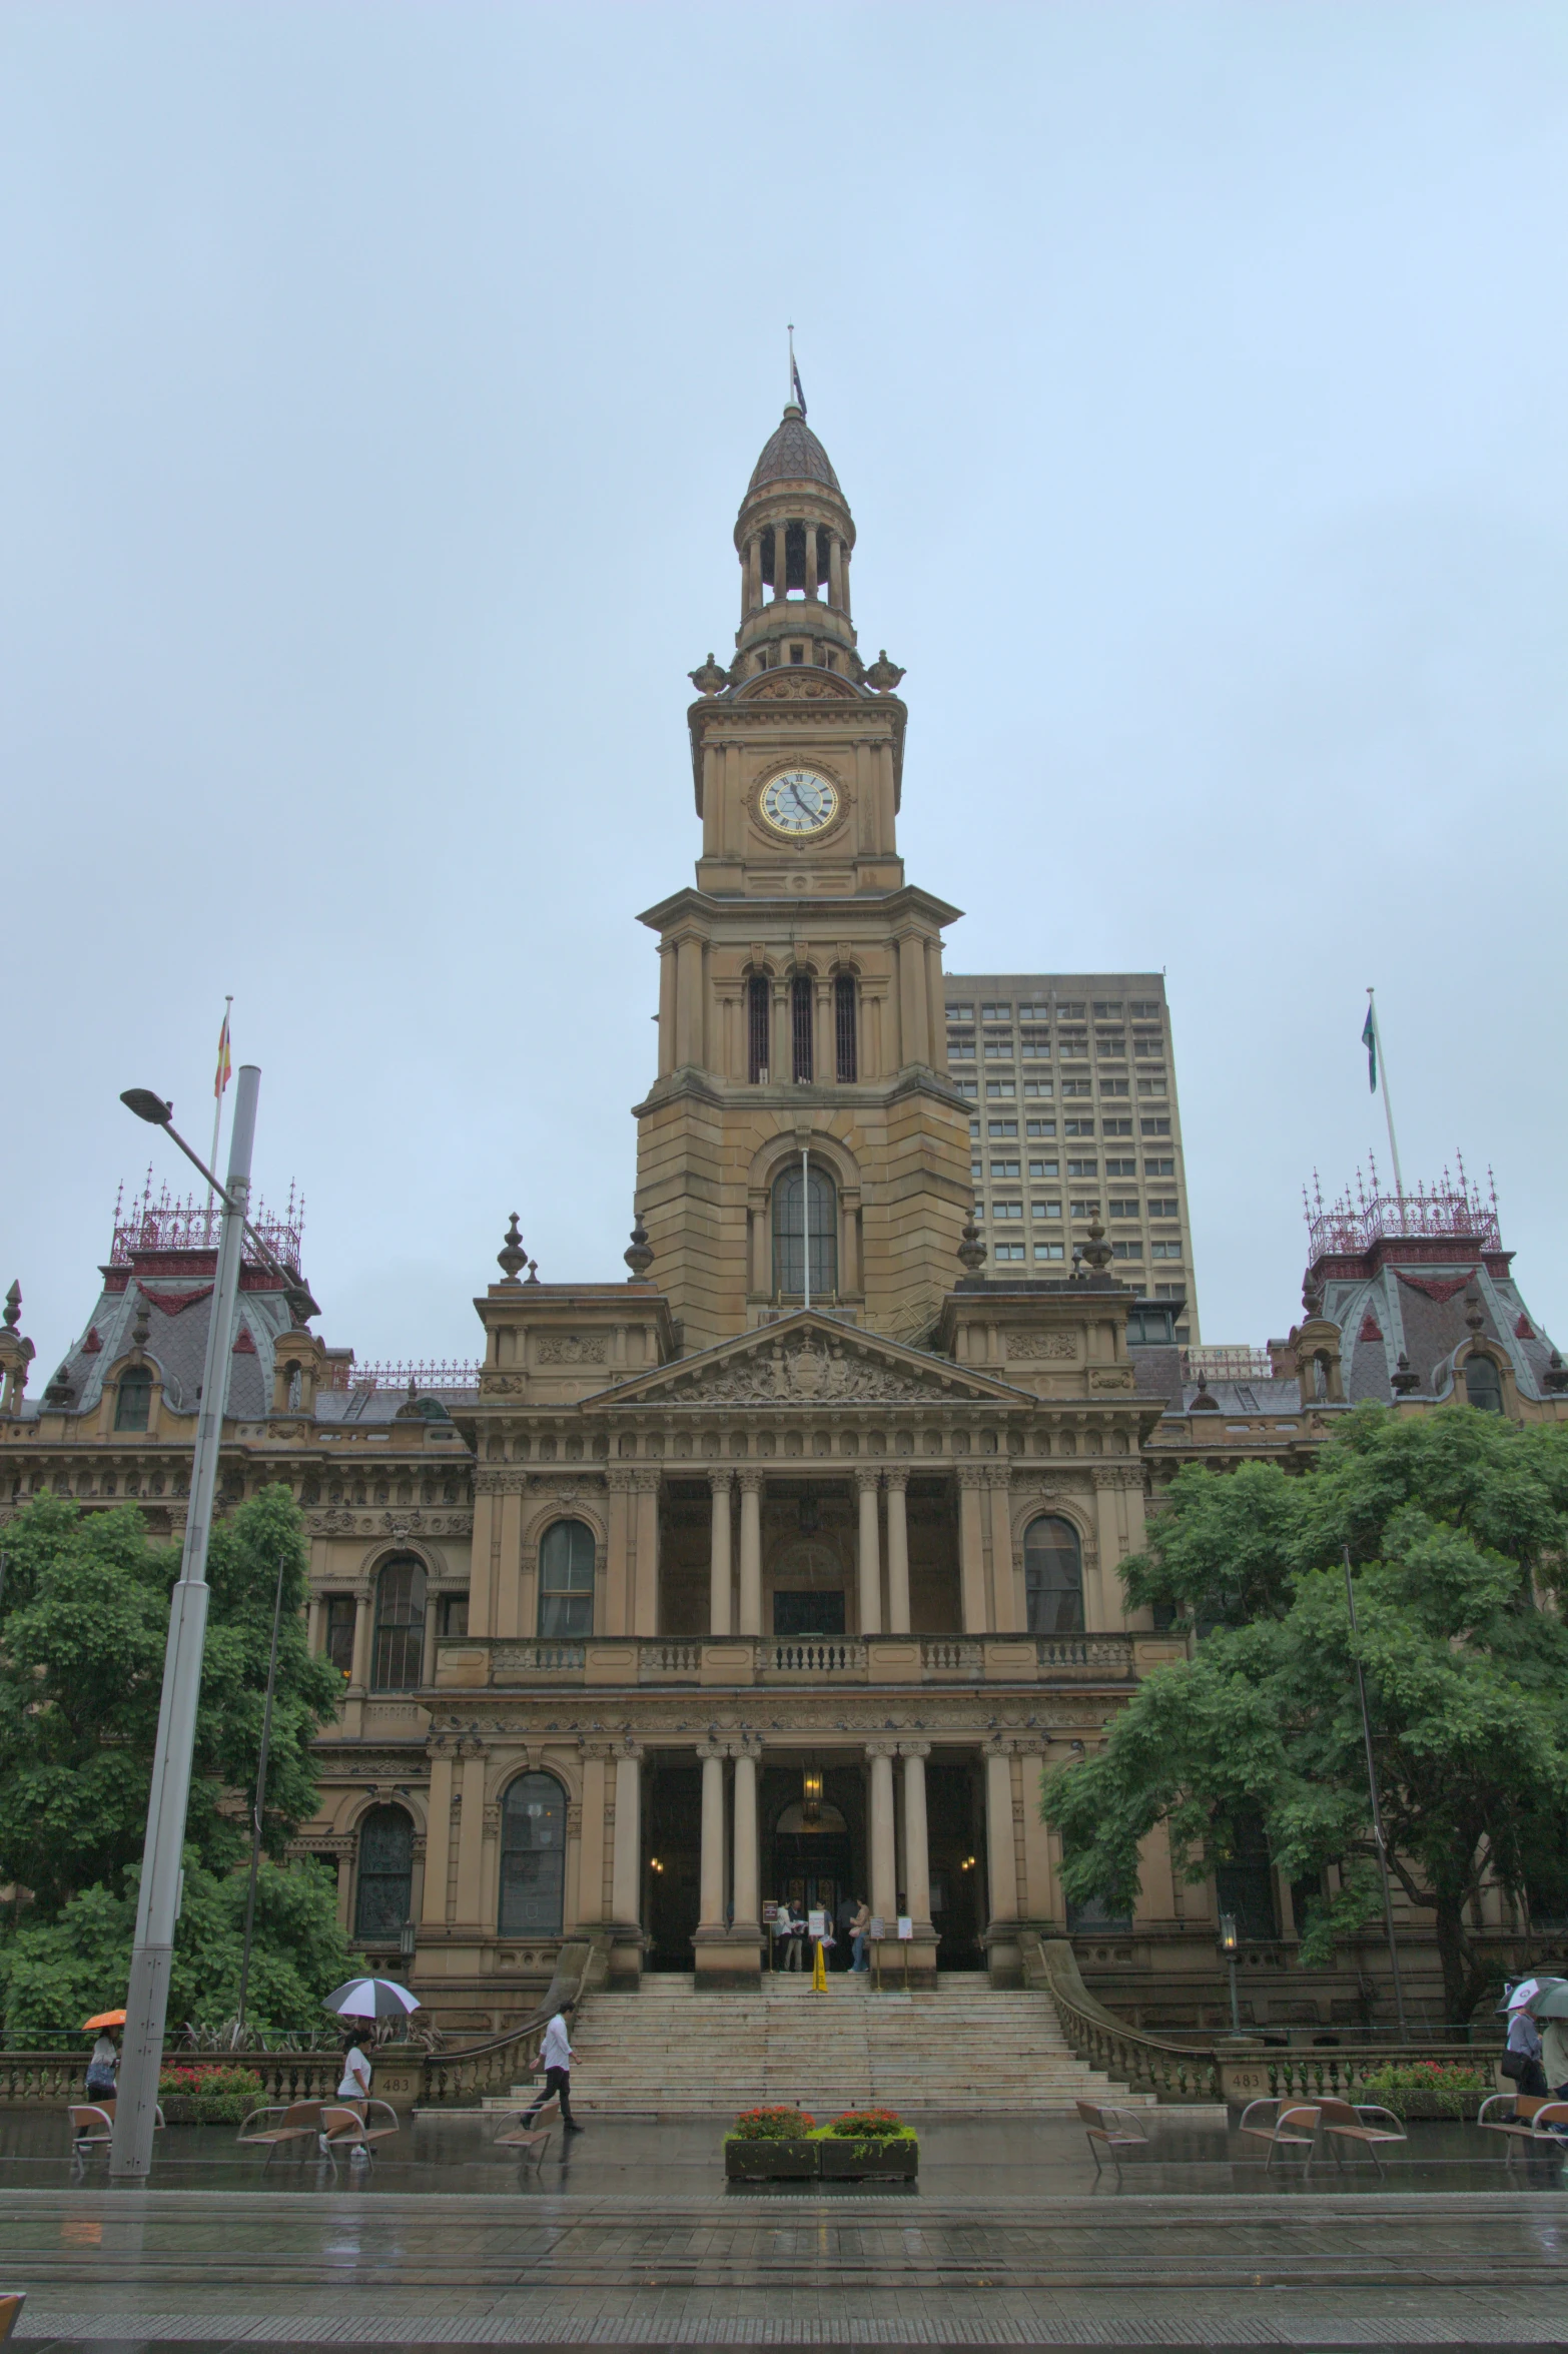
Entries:
[[1069,2119],[932,2119],[918,2185],[735,2189],[725,2123],[596,2119],[525,2170],[506,2119],[431,2119],[337,2175],[170,2128],[129,2189],[12,2112],[0,2286],[61,2347],[1568,2342],[1563,2168],[1474,2126],[1302,2177],[1156,2112],[1118,2180]]

